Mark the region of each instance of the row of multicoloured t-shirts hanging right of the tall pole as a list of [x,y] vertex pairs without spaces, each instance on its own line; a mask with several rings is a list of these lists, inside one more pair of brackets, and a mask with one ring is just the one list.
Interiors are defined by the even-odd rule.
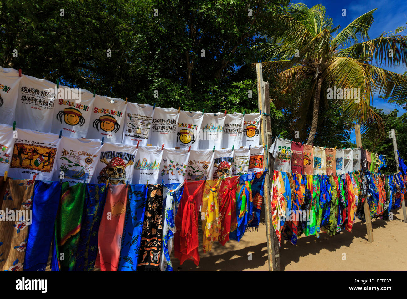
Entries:
[[361,169],[377,172],[379,165],[379,155],[363,148],[324,148],[279,137],[269,152],[274,157],[275,170],[305,175],[343,174]]

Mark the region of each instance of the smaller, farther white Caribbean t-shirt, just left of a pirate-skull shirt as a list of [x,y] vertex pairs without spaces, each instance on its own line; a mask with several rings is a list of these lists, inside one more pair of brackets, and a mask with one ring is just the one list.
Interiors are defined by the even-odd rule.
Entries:
[[186,172],[187,180],[201,181],[211,179],[214,151],[211,149],[191,150]]

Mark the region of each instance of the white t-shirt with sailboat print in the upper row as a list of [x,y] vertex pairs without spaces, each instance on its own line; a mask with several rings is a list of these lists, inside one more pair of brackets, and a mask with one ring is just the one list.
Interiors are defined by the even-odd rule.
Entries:
[[222,148],[223,125],[225,124],[225,113],[218,112],[204,113],[202,120],[201,138],[199,140],[199,148],[211,149],[213,147]]

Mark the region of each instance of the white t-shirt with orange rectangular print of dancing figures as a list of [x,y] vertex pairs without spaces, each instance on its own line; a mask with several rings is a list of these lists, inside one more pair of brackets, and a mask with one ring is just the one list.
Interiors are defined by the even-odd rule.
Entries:
[[[53,133],[16,129],[17,138],[13,148],[9,177],[51,181],[58,172],[55,161],[61,139]],[[58,172],[59,174],[59,172]]]

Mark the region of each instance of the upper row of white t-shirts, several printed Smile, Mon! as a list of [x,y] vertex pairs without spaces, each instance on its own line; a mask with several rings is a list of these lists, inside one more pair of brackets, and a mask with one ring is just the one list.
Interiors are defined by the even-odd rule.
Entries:
[[[18,113],[16,113],[18,111]],[[85,89],[57,86],[45,79],[0,68],[0,120],[21,129],[110,143],[166,148],[238,148],[259,145],[260,113],[179,111]]]

